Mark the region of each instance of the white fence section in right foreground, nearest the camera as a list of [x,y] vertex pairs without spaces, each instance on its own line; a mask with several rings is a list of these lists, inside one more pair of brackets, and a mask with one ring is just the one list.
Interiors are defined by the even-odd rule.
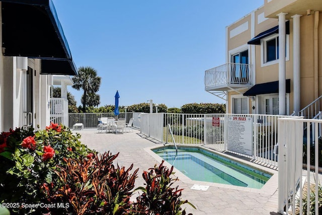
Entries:
[[[315,214],[319,214],[319,205],[315,202],[319,202],[321,186],[318,179],[319,166],[322,166],[319,161],[321,140],[318,134],[321,133],[322,120],[282,118],[278,124],[278,211],[282,214],[313,214],[309,211],[315,210]],[[306,127],[304,131],[303,127]]]

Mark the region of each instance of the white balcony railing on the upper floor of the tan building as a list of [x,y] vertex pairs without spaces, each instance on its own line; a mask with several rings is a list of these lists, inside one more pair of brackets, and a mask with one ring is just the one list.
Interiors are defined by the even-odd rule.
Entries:
[[205,71],[205,88],[228,84],[252,84],[250,64],[225,63]]

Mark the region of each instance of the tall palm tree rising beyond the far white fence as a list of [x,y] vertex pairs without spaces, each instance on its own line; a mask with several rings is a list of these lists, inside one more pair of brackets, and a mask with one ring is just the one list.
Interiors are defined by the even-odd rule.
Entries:
[[91,66],[81,66],[78,68],[78,75],[72,78],[74,85],[72,88],[76,90],[84,90],[83,94],[83,110],[86,110],[88,94],[96,93],[100,89],[101,77],[97,76],[97,71]]

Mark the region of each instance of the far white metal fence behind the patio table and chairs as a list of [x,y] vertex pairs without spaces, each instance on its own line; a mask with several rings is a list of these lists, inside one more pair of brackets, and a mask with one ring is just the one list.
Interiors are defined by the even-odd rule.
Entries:
[[[125,116],[126,115],[126,116]],[[96,128],[98,125],[98,118],[102,117],[113,117],[115,118],[114,113],[69,113],[68,114],[68,126],[76,123],[83,123],[84,128]],[[132,112],[120,113],[117,118],[126,118],[126,123],[129,122],[130,118],[133,117]]]

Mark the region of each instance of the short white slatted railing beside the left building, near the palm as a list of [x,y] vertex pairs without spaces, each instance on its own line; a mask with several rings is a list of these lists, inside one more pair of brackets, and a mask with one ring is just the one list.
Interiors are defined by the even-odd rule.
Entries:
[[68,100],[64,98],[50,98],[50,122],[58,124],[68,123]]

